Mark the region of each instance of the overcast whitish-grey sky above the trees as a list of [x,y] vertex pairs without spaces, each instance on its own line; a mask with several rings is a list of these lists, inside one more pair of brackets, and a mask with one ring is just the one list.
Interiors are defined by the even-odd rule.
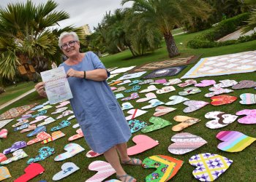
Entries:
[[[26,0],[0,0],[1,7],[7,7],[8,3],[26,2]],[[34,4],[45,3],[47,0],[32,0]],[[121,6],[121,0],[55,0],[59,6],[57,10],[69,13],[69,19],[59,22],[61,28],[67,25],[80,27],[89,24],[91,31],[102,21],[105,12],[114,12],[117,8],[131,7],[132,2]]]

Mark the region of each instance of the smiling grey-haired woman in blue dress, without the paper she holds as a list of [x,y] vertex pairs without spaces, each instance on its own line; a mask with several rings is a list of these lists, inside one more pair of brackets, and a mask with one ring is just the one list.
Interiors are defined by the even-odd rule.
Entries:
[[[141,165],[141,161],[127,155],[131,132],[115,95],[105,81],[108,78],[105,66],[93,52],[79,52],[80,43],[75,32],[61,33],[59,47],[68,57],[60,66],[64,66],[67,73],[73,95],[70,103],[86,142],[92,150],[104,153],[105,159],[116,170],[118,180],[136,181],[121,167],[121,163]],[[39,95],[47,96],[43,82],[35,88]]]

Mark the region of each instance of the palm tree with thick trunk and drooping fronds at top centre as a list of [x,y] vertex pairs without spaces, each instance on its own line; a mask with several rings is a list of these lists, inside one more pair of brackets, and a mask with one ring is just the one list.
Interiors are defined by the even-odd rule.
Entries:
[[185,21],[193,22],[193,18],[207,19],[210,7],[203,0],[122,0],[121,4],[134,1],[132,9],[141,15],[141,21],[157,27],[165,37],[167,52],[170,58],[179,55],[178,48],[171,31],[180,27]]

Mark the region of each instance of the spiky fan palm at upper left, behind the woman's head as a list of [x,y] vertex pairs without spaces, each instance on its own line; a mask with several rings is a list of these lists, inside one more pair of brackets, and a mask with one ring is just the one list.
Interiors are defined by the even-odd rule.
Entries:
[[[37,71],[45,70],[50,60],[60,58],[58,36],[74,28],[53,28],[69,18],[67,12],[57,12],[57,6],[49,0],[38,6],[26,1],[0,7],[0,77],[13,79],[21,58],[32,63]],[[78,32],[81,33],[80,29]]]

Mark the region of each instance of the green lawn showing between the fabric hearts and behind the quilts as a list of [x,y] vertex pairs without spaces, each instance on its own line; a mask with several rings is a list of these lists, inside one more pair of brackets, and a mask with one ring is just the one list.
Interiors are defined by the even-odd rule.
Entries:
[[[200,32],[202,33],[202,32]],[[243,44],[236,44],[236,45],[230,45],[227,47],[217,47],[217,48],[211,48],[211,49],[199,49],[199,50],[192,50],[186,47],[186,42],[189,41],[189,39],[194,39],[194,37],[199,33],[192,33],[192,34],[183,34],[180,36],[176,36],[176,43],[178,44],[178,48],[181,52],[180,56],[185,55],[200,55],[203,54],[202,57],[208,57],[208,56],[214,56],[214,55],[225,55],[228,53],[234,53],[234,52],[244,52],[249,50],[255,50],[256,49],[256,41],[249,41]],[[183,44],[179,44],[182,42]],[[103,63],[105,63],[105,66],[108,68],[118,66],[118,67],[124,67],[124,66],[138,66],[143,63],[147,62],[154,62],[158,60],[166,60],[167,59],[167,52],[164,47],[160,48],[159,50],[154,51],[152,54],[145,55],[140,58],[132,58],[132,55],[126,51],[121,52],[117,55],[110,55],[105,58],[102,58]],[[187,66],[184,71],[181,72],[181,74],[178,74],[177,76],[169,76],[166,77],[166,79],[174,79],[174,78],[180,78],[183,74],[187,73],[190,68],[192,68],[193,65]],[[116,79],[116,78],[113,78]],[[159,78],[160,79],[160,78]],[[200,82],[200,80],[203,79],[214,79],[216,81],[222,80],[222,79],[235,79],[236,81],[240,81],[243,79],[252,79],[256,80],[255,73],[246,73],[246,74],[232,74],[232,75],[226,75],[226,76],[211,76],[211,77],[204,77],[196,79],[197,82]],[[131,86],[125,85],[127,89],[129,89]],[[143,87],[140,90],[145,89],[148,87],[148,85],[143,85]],[[158,86],[157,87],[162,87]],[[177,95],[178,92],[182,91],[183,89],[180,87],[176,87],[176,91],[169,92],[167,94],[163,95],[157,95],[157,98],[161,100],[162,102],[169,101],[169,97],[171,95]],[[203,95],[208,92],[208,87],[202,88],[202,92],[197,93],[196,95],[188,95],[187,98],[191,100],[204,100],[204,101],[211,101],[209,98],[205,98]],[[239,97],[241,93],[248,92],[248,93],[255,93],[254,89],[246,89],[246,90],[235,90],[235,92],[230,93],[229,95],[235,95],[236,97]],[[123,92],[124,93],[124,92]],[[124,93],[124,96],[128,96],[130,93]],[[143,98],[144,94],[140,94],[140,98]],[[7,108],[4,108],[1,112],[7,111],[7,109],[15,107],[15,106],[23,106],[27,103],[34,103],[39,102],[43,103],[46,99],[40,98],[37,93],[32,93],[31,95],[26,96],[26,98],[23,98],[19,100],[16,103],[13,103],[11,106],[8,106]],[[239,99],[238,99],[239,100]],[[173,132],[171,130],[171,126],[162,128],[161,130],[156,130],[154,132],[135,132],[132,136],[139,135],[139,134],[146,134],[150,136],[151,138],[154,138],[154,140],[159,141],[159,146],[156,146],[154,149],[150,149],[146,152],[143,152],[142,154],[138,154],[135,157],[138,157],[140,159],[146,159],[146,157],[150,157],[157,154],[167,155],[170,157],[175,157],[177,159],[181,159],[184,161],[184,165],[181,167],[181,170],[178,171],[177,175],[173,177],[172,181],[197,181],[193,175],[192,170],[195,169],[195,167],[192,167],[189,165],[189,158],[192,157],[195,154],[200,153],[212,153],[212,154],[219,154],[224,157],[227,157],[229,159],[232,159],[233,165],[230,166],[230,168],[225,172],[225,174],[221,175],[218,178],[218,181],[256,181],[255,177],[255,149],[256,149],[256,143],[252,143],[251,146],[248,146],[244,151],[238,152],[238,153],[228,153],[225,151],[220,151],[217,149],[217,145],[219,141],[216,138],[216,135],[218,132],[222,130],[236,130],[239,132],[243,132],[246,135],[255,137],[255,126],[254,125],[246,125],[246,124],[239,124],[238,122],[234,122],[233,124],[229,124],[227,127],[218,129],[218,130],[210,130],[208,129],[205,124],[209,120],[204,117],[204,115],[208,111],[224,111],[228,114],[236,114],[236,111],[240,111],[241,109],[248,108],[252,109],[255,108],[254,105],[252,106],[242,106],[240,103],[238,103],[238,100],[236,100],[235,103],[228,104],[225,106],[211,106],[208,105],[204,108],[201,108],[200,110],[194,111],[190,114],[184,114],[183,109],[185,106],[182,103],[179,103],[176,106],[173,106],[174,108],[177,108],[176,111],[173,111],[169,114],[166,114],[164,116],[161,116],[162,119],[166,119],[170,122],[172,122],[173,125],[178,124],[178,122],[175,122],[173,120],[173,117],[176,115],[186,115],[186,116],[192,116],[201,119],[201,122],[192,125],[191,127],[187,127],[183,130],[183,132],[190,132],[194,135],[199,135],[200,137],[204,138],[208,143],[205,146],[202,146],[200,149],[197,149],[195,151],[189,152],[184,155],[173,155],[170,154],[169,151],[167,151],[167,147],[172,143],[170,141],[170,138],[175,135],[177,132]],[[120,104],[123,102],[118,100]],[[133,106],[136,108],[141,108],[143,106],[148,105],[148,103],[136,103],[135,100],[131,100],[130,103],[132,103]],[[48,110],[48,114],[50,114],[54,108],[50,108]],[[138,117],[138,119],[148,122],[151,116],[154,114],[154,108],[147,109],[148,113],[144,114],[143,116]],[[124,114],[127,116],[127,111],[124,111]],[[53,118],[58,115],[53,115]],[[64,119],[66,119],[65,117]],[[31,119],[29,119],[31,121]],[[62,119],[59,119],[56,122],[53,122],[52,124],[49,124],[47,126],[48,132],[50,133],[50,128],[56,126],[59,122],[61,122]],[[75,124],[75,119],[72,119],[72,125]],[[11,122],[7,125],[7,129],[9,130],[9,135],[7,139],[2,139],[0,142],[0,151],[3,151],[4,149],[10,147],[12,143],[15,141],[29,141],[31,138],[26,138],[26,134],[20,134],[19,132],[13,132],[11,125],[15,122]],[[149,122],[148,122],[149,124]],[[75,129],[72,129],[72,127],[67,127],[61,130],[64,132],[67,136],[64,138],[60,138],[57,141],[53,141],[51,143],[48,143],[46,145],[42,145],[41,143],[35,143],[32,146],[28,146],[24,148],[24,151],[26,151],[27,154],[29,154],[29,157],[26,159],[20,159],[17,162],[12,162],[9,165],[7,165],[8,169],[10,170],[10,173],[12,175],[12,178],[7,179],[6,181],[13,181],[15,178],[18,178],[18,176],[23,174],[23,169],[27,166],[26,161],[30,159],[31,157],[37,156],[37,151],[42,146],[50,146],[56,149],[56,154],[54,154],[51,157],[48,157],[48,159],[45,159],[42,162],[39,162],[43,167],[45,167],[45,173],[42,175],[37,176],[37,178],[34,178],[32,181],[39,181],[45,179],[46,181],[52,181],[51,178],[54,174],[58,173],[61,169],[61,165],[64,164],[64,162],[74,162],[78,167],[80,167],[80,170],[75,172],[73,175],[64,178],[62,181],[86,181],[86,179],[90,178],[92,175],[94,175],[96,172],[88,170],[88,166],[91,162],[94,160],[105,160],[104,157],[97,157],[96,159],[92,158],[86,158],[86,153],[82,152],[80,154],[75,155],[75,157],[66,159],[62,162],[54,162],[53,159],[56,157],[56,155],[61,154],[64,152],[63,148],[64,146],[69,143],[67,141],[67,138],[71,135],[75,135]],[[99,133],[100,135],[100,133]],[[83,138],[78,139],[77,141],[74,141],[73,143],[78,143],[83,148],[86,149],[86,151],[89,151],[89,147],[86,145]],[[128,142],[128,146],[135,145],[132,142],[132,139]],[[7,157],[10,157],[11,154],[8,154]],[[143,167],[136,166],[124,166],[124,169],[127,171],[127,173],[133,175],[135,178],[138,179],[138,181],[144,181],[147,175],[150,173],[153,173],[155,169],[144,169]],[[110,178],[115,178],[115,175],[112,175]]]

